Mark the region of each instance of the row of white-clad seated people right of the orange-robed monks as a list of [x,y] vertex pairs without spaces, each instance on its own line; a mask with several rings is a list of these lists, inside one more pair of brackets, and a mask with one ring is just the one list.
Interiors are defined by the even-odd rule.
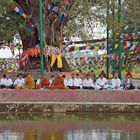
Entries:
[[135,89],[130,74],[127,74],[126,77],[121,81],[118,78],[118,73],[115,73],[114,78],[110,83],[105,78],[103,73],[100,74],[100,77],[96,80],[95,83],[95,80],[90,78],[90,74],[87,74],[84,80],[79,77],[79,74],[76,74],[76,76],[75,74],[72,74],[70,80],[67,80],[65,76],[63,79],[65,86],[71,89]]

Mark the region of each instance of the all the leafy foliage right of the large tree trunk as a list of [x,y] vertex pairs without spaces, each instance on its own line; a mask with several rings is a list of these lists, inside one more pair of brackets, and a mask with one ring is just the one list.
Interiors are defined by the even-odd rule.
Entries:
[[[78,0],[77,0],[78,1]],[[70,11],[70,16],[74,15],[75,18],[69,21],[67,28],[65,28],[66,36],[79,36],[82,39],[89,39],[89,30],[91,29],[94,35],[94,25],[98,23],[106,27],[107,24],[111,33],[118,33],[121,28],[122,31],[134,32],[140,30],[140,0],[122,0],[121,7],[121,23],[118,22],[118,0],[96,0],[93,1],[80,1],[79,7]],[[109,3],[107,5],[107,3]],[[107,16],[107,7],[109,8],[109,15]],[[80,12],[78,12],[80,11]],[[76,14],[77,13],[77,14]]]

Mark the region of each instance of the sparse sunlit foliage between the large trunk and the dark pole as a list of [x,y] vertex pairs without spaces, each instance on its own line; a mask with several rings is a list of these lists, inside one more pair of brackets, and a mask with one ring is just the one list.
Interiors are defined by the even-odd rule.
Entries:
[[[69,8],[69,22],[65,28],[65,36],[80,37],[84,40],[93,39],[93,28],[98,23],[105,23],[105,14],[102,12],[103,1],[77,0],[75,7]],[[91,34],[89,34],[91,32]]]

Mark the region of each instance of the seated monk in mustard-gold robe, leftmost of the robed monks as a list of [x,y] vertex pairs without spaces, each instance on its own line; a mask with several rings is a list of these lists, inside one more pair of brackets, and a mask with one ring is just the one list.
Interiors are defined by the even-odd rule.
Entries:
[[35,88],[35,82],[34,79],[31,77],[30,74],[25,76],[25,89],[34,89]]

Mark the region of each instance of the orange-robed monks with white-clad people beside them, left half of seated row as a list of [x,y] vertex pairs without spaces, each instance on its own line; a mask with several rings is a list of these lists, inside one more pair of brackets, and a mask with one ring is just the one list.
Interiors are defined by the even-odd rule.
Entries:
[[14,82],[8,74],[4,74],[0,79],[0,86],[2,89],[67,89],[67,87],[64,86],[64,80],[60,74],[58,74],[56,78],[51,76],[50,80],[48,80],[46,76],[42,76],[37,82],[35,82],[30,74],[18,74]]

